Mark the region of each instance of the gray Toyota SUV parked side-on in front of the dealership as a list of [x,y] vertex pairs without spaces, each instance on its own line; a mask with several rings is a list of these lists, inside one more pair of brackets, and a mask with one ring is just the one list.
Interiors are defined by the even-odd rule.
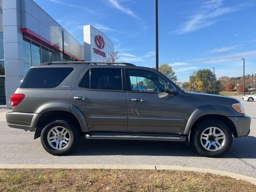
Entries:
[[251,118],[230,97],[184,92],[157,70],[129,63],[47,62],[11,97],[9,127],[34,131],[53,155],[86,139],[183,141],[207,157],[247,136]]

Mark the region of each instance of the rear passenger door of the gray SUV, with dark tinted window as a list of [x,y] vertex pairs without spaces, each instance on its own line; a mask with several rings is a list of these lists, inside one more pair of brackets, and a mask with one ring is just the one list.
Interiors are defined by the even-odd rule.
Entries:
[[121,67],[90,66],[78,78],[71,104],[86,118],[90,132],[126,132],[128,104]]

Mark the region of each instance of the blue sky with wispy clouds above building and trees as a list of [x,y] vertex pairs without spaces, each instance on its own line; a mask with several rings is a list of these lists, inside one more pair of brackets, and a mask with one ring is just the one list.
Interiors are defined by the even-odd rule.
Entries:
[[[119,60],[155,66],[154,0],[34,0],[83,44],[83,26],[106,34]],[[178,81],[215,68],[217,78],[256,73],[256,0],[158,0],[159,64]]]

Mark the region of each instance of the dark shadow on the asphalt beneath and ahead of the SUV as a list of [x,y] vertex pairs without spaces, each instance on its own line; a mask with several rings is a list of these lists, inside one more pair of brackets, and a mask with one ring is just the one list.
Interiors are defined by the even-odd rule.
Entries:
[[[139,156],[200,156],[185,142],[140,140],[86,140],[70,156],[139,155]],[[256,137],[234,138],[230,151],[222,158],[256,158]]]

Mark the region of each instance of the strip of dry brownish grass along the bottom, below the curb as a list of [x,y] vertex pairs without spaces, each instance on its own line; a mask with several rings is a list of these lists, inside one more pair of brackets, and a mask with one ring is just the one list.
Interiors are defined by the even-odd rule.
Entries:
[[157,170],[0,170],[0,191],[256,192],[250,182],[214,174]]

